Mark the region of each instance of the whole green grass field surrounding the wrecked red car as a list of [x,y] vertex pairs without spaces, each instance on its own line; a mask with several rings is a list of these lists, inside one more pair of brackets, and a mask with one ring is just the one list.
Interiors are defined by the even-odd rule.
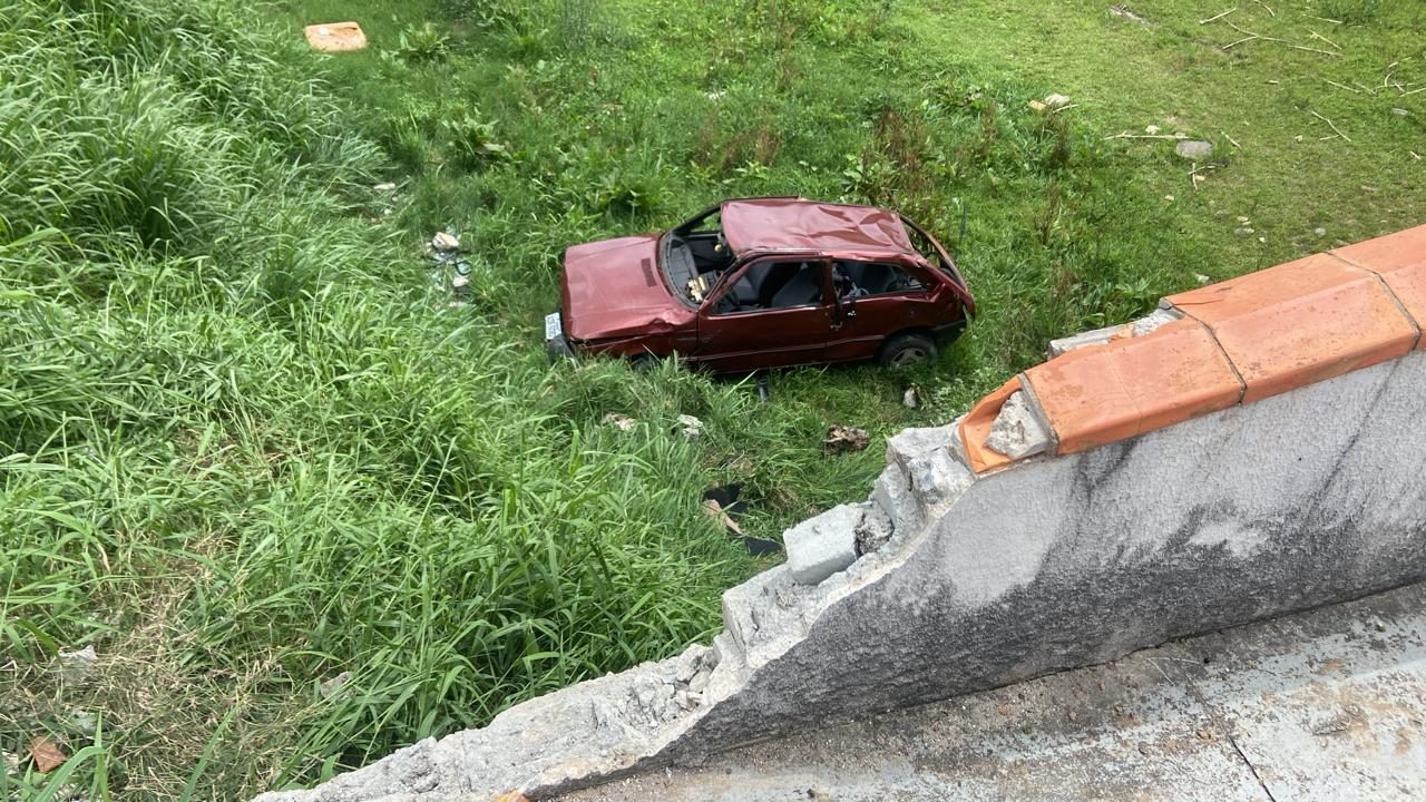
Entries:
[[[0,7],[0,749],[73,755],[0,799],[244,799],[674,654],[767,565],[703,488],[743,482],[776,537],[1051,337],[1426,221],[1426,9],[1231,7]],[[305,49],[345,19],[368,50]],[[1148,138],[1176,133],[1212,157]],[[546,365],[566,245],[761,194],[948,243],[965,210],[980,318],[769,404]],[[421,254],[446,228],[465,305]],[[824,455],[831,424],[873,447]]]

